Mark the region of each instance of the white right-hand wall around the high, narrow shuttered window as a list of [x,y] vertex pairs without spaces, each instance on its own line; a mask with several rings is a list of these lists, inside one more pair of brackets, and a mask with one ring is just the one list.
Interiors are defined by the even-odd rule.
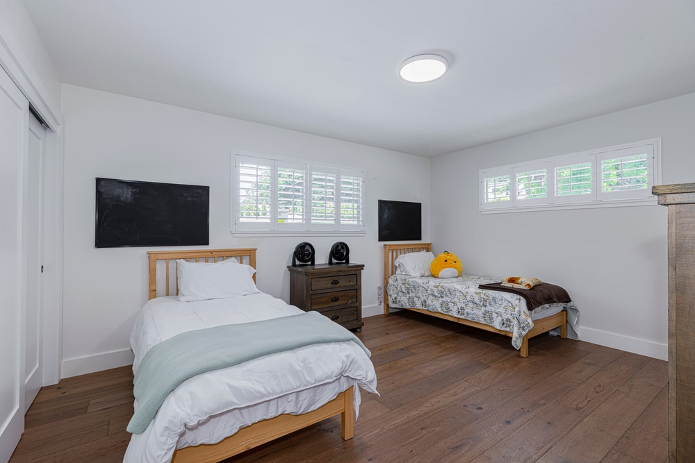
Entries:
[[537,276],[565,287],[580,339],[667,358],[667,208],[480,214],[478,171],[662,138],[662,184],[695,181],[695,94],[432,160],[432,240],[464,271]]

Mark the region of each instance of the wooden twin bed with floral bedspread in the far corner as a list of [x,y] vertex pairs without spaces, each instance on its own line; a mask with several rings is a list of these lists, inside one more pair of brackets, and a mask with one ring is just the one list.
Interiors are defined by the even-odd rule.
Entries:
[[[557,330],[562,338],[577,338],[578,317],[569,302],[548,303],[527,310],[522,296],[480,289],[499,278],[462,275],[460,278],[412,276],[399,271],[398,258],[409,253],[431,253],[431,243],[384,244],[384,314],[390,308],[407,309],[512,338],[521,357],[528,357],[528,340]],[[568,323],[569,321],[569,323]]]

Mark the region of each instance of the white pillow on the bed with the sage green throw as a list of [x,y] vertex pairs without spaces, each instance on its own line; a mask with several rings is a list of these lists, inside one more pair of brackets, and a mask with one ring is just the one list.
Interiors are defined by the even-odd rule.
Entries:
[[177,260],[179,301],[245,296],[259,293],[252,278],[256,269],[231,258],[220,262]]

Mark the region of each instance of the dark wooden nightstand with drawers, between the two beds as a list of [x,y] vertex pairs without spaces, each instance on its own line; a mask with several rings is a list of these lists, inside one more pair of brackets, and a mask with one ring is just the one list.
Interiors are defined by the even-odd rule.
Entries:
[[361,330],[363,268],[363,264],[290,265],[290,303],[321,312],[348,330]]

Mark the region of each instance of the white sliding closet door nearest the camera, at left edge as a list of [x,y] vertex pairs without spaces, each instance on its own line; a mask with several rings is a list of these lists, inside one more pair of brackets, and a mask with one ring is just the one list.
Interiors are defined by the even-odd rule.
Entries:
[[0,462],[24,430],[22,208],[28,102],[0,68]]

